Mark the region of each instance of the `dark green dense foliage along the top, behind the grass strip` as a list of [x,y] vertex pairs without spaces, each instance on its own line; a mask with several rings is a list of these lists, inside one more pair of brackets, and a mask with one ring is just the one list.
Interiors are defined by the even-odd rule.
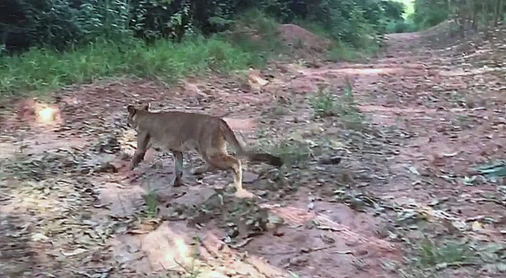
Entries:
[[316,23],[335,39],[357,45],[367,34],[383,33],[404,7],[385,0],[3,0],[0,32],[8,50],[68,49],[97,39],[180,41],[226,30],[248,9],[282,23]]

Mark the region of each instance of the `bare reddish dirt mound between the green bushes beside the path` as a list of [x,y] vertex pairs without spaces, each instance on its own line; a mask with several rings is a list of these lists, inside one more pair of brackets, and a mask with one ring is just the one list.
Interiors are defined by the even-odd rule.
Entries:
[[329,49],[332,44],[329,39],[322,38],[294,24],[282,24],[279,26],[279,30],[283,42],[295,48],[323,52]]

